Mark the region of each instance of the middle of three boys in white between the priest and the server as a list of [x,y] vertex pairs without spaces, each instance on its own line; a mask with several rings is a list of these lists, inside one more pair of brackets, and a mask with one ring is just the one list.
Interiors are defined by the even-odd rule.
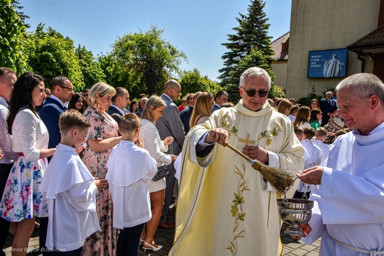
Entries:
[[[322,158],[324,157],[321,149],[314,145],[311,141],[314,135],[315,129],[312,127],[307,127],[303,129],[302,139],[299,139],[301,145],[303,145],[303,148],[305,151],[307,151],[308,155],[308,160],[304,161],[304,169],[319,165]],[[307,197],[309,197],[310,189],[308,189],[307,186],[305,186],[304,183],[300,181],[294,194],[294,198],[301,198],[304,192],[307,192]]]

